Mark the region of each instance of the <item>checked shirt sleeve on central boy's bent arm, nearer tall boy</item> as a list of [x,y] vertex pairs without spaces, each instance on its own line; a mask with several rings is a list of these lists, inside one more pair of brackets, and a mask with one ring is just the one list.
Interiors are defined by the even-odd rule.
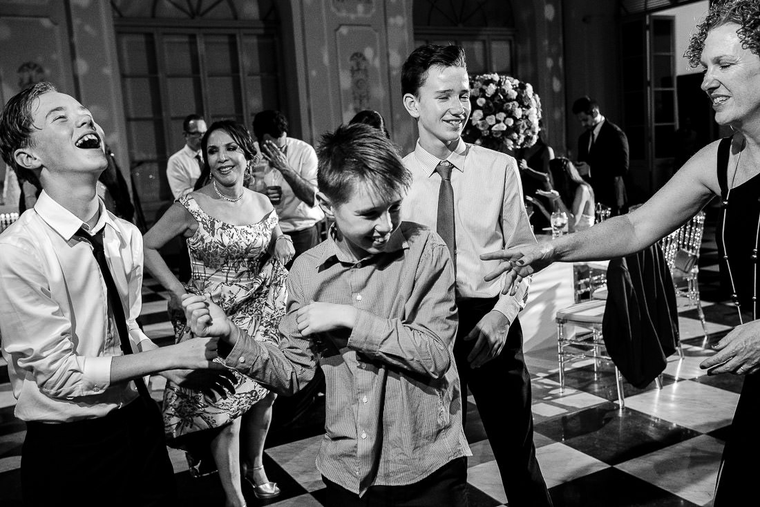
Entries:
[[445,245],[420,258],[404,318],[359,310],[348,347],[383,363],[439,379],[451,366],[457,332],[454,270]]

